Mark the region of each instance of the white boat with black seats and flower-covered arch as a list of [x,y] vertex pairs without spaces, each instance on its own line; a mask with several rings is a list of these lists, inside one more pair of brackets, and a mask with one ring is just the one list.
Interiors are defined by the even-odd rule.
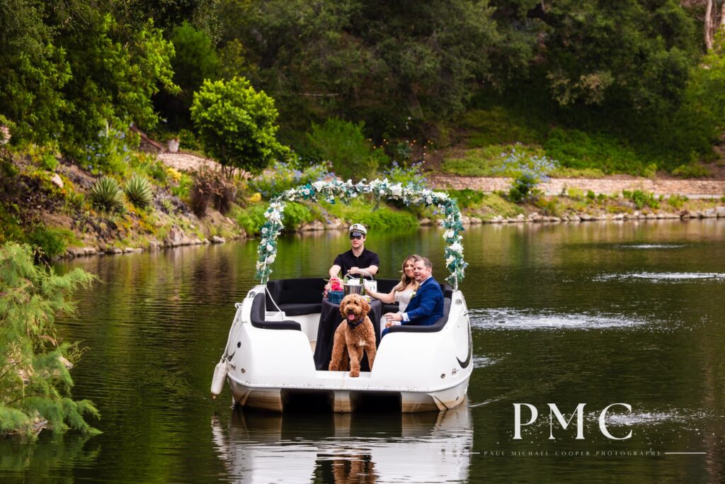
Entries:
[[[455,200],[442,192],[386,180],[318,184],[289,190],[270,203],[258,251],[257,275],[262,284],[236,303],[228,341],[212,379],[212,395],[221,392],[226,380],[234,405],[268,411],[281,412],[305,402],[328,405],[335,412],[355,411],[368,404],[393,406],[402,412],[440,411],[460,405],[473,372],[473,348],[468,308],[457,288],[465,263],[458,234],[463,227]],[[447,216],[445,256],[451,274],[447,280],[452,285],[442,284],[445,309],[439,321],[431,326],[392,328],[380,341],[372,371],[350,377],[349,372],[327,371],[325,348],[331,348],[334,328],[323,327],[324,316],[330,312],[329,303],[322,300],[324,279],[269,281],[268,276],[276,257],[285,201],[357,193],[437,205]],[[389,291],[396,282],[378,279],[378,290]],[[370,315],[375,326],[374,317],[383,309],[389,310],[378,307],[376,316]]]

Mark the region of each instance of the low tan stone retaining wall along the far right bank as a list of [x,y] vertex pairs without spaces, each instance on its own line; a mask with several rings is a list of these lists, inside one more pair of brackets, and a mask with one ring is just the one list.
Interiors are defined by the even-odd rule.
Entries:
[[[436,189],[474,189],[481,192],[508,190],[511,179],[488,176],[428,175]],[[655,195],[682,194],[689,198],[714,198],[725,195],[725,180],[652,180],[646,178],[604,179],[550,179],[540,189],[547,195],[566,194],[567,189],[579,189],[584,193],[621,194],[622,190],[642,190]]]

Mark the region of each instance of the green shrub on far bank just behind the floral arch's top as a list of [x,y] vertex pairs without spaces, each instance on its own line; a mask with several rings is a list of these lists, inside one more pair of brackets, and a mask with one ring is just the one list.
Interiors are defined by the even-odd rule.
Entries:
[[362,122],[355,124],[339,118],[328,118],[322,125],[312,123],[310,145],[319,159],[330,162],[333,171],[344,180],[374,178],[378,165],[388,161],[383,149],[376,149],[365,138],[364,126]]

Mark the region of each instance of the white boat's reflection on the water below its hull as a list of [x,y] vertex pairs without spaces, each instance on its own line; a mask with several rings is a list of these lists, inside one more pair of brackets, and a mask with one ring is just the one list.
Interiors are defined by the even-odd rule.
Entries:
[[214,443],[239,483],[465,481],[473,446],[468,405],[418,414],[235,411]]

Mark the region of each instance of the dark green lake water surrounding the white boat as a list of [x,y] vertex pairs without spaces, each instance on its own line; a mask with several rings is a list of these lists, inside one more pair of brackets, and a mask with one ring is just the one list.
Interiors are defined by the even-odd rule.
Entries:
[[[273,278],[322,276],[344,235],[284,238]],[[73,396],[96,403],[103,434],[5,439],[0,480],[725,481],[725,221],[477,226],[463,242],[476,369],[467,404],[443,414],[235,412],[228,388],[212,401],[255,241],[59,264],[99,276],[59,332],[88,348]],[[438,229],[370,231],[368,247],[381,276],[408,253],[445,276]],[[514,403],[539,414],[521,440]],[[548,403],[566,419],[585,403],[584,438],[576,417],[550,429]],[[602,434],[612,403],[631,412],[611,408],[606,430],[631,438]]]

